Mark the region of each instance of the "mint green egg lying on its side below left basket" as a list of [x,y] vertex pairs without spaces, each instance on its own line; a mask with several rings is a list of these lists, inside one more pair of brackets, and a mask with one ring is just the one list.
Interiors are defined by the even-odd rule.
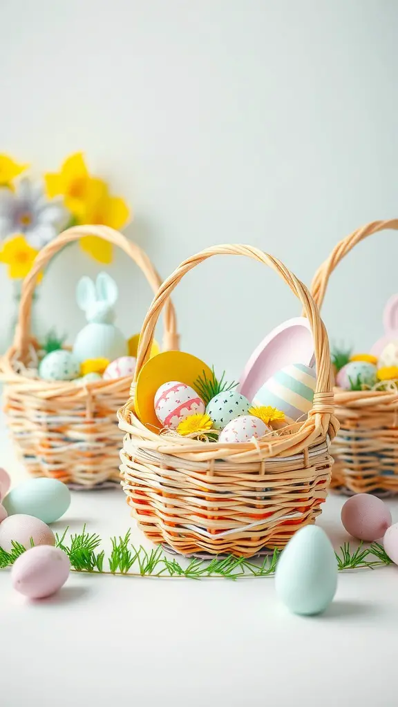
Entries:
[[16,486],[3,499],[8,516],[25,513],[52,523],[68,510],[71,493],[62,481],[57,479],[28,479]]

